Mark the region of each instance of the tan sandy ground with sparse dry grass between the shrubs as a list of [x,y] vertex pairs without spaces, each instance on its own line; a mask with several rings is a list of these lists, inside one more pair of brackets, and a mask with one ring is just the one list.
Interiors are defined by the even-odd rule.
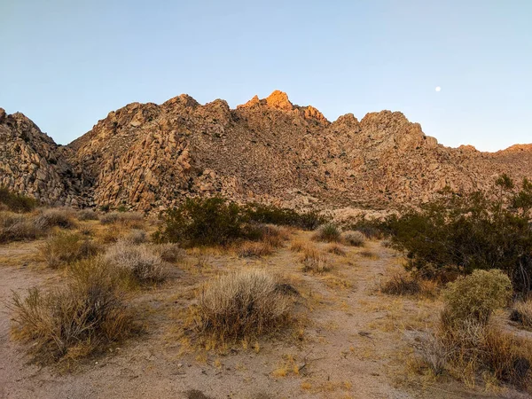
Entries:
[[[309,239],[309,233],[296,235]],[[333,270],[323,275],[302,273],[289,245],[255,260],[191,253],[173,266],[168,283],[131,298],[145,325],[142,336],[74,372],[27,364],[20,343],[10,339],[7,302],[13,291],[61,284],[61,273],[35,258],[36,246],[0,246],[0,398],[525,397],[411,375],[406,336],[432,325],[439,304],[379,293],[380,279],[402,261],[379,242],[344,246],[346,256],[327,254]],[[326,244],[317,246],[326,253]],[[225,354],[184,350],[179,331],[194,290],[218,273],[247,267],[267,268],[293,282],[304,303],[298,308],[307,320],[304,332],[261,340],[258,347],[235,345]]]

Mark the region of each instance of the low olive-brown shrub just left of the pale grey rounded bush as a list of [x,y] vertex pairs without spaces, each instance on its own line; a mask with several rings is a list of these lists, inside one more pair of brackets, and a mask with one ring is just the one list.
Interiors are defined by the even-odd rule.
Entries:
[[46,239],[40,246],[40,253],[51,268],[69,264],[98,254],[99,247],[90,239],[79,234],[59,232]]

